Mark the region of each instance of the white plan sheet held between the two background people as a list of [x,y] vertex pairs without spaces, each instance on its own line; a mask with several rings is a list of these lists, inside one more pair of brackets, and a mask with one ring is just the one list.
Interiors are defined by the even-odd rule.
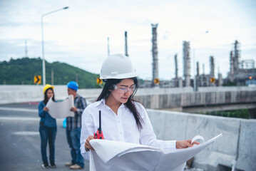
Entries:
[[68,95],[68,98],[61,102],[54,102],[53,100],[48,100],[46,107],[49,109],[52,118],[66,118],[68,116],[73,117],[75,115],[70,109],[74,107],[73,95]]

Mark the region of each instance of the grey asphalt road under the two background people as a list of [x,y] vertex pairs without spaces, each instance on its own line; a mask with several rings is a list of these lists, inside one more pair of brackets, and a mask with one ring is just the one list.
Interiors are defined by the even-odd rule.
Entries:
[[[46,170],[41,168],[37,106],[37,103],[0,105],[0,170]],[[49,170],[70,170],[65,167],[65,162],[71,161],[66,130],[62,128],[62,120],[57,120],[57,125],[56,168]],[[83,170],[89,170],[88,161]]]

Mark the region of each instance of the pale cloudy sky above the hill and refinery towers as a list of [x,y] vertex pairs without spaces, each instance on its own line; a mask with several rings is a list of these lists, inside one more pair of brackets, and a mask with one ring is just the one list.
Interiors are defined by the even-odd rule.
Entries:
[[[151,24],[158,24],[159,78],[183,76],[183,41],[190,41],[191,75],[194,61],[200,73],[210,72],[210,56],[225,77],[229,54],[240,41],[241,60],[256,60],[256,1],[254,0],[1,0],[0,61],[42,56],[41,16],[65,6],[69,8],[43,17],[44,51],[48,62],[60,61],[99,73],[110,52],[124,53],[128,31],[128,53],[140,78],[152,78]],[[209,31],[209,33],[205,33]]]

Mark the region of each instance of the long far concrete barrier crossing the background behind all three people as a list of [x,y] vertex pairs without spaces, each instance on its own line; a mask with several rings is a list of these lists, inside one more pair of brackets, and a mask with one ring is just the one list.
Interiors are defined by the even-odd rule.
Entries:
[[[57,100],[66,98],[66,86],[54,86]],[[78,89],[85,98],[95,100],[101,93],[98,89]],[[43,86],[0,86],[0,104],[40,101]],[[256,88],[250,87],[208,87],[199,88],[140,88],[135,99],[146,108],[179,108],[195,105],[217,105],[228,103],[256,102]]]

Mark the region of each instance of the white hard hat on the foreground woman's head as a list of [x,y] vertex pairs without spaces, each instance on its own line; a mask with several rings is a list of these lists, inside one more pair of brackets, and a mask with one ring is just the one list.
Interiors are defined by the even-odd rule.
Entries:
[[133,63],[121,53],[108,56],[101,66],[101,79],[123,79],[137,77]]

